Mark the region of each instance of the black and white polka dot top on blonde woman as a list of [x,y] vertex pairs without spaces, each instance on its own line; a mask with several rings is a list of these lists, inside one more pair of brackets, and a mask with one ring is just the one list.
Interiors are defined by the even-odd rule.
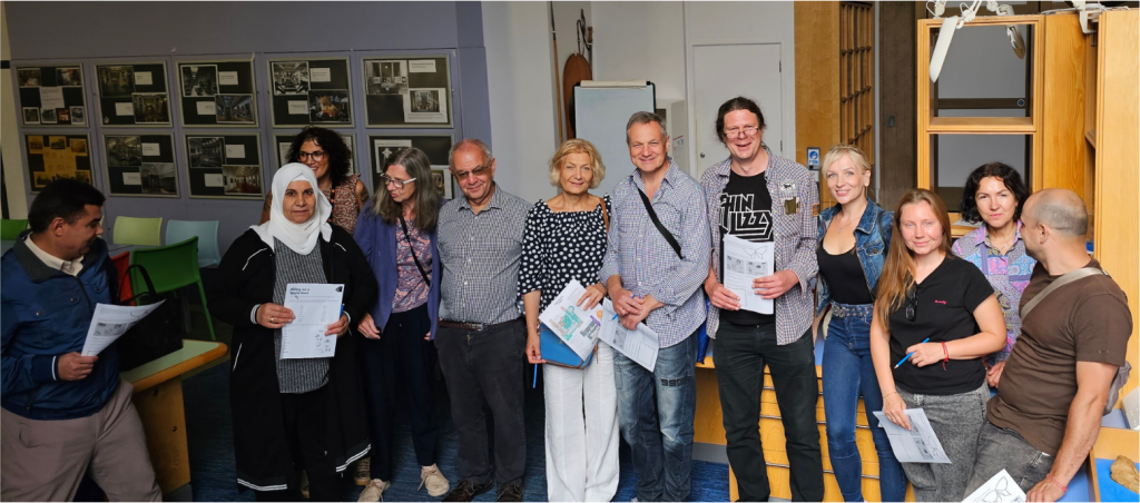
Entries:
[[[602,204],[612,221],[610,196],[602,197]],[[539,201],[527,214],[519,295],[540,290],[539,313],[571,279],[583,286],[598,283],[606,241],[602,204],[592,211],[554,212]]]

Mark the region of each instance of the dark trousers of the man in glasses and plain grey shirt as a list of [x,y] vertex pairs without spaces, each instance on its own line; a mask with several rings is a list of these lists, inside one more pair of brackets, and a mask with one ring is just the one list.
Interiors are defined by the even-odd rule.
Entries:
[[481,331],[440,327],[435,335],[440,366],[459,433],[459,479],[490,480],[487,416],[495,422],[495,481],[522,484],[527,436],[522,417],[523,352],[527,327],[521,319]]

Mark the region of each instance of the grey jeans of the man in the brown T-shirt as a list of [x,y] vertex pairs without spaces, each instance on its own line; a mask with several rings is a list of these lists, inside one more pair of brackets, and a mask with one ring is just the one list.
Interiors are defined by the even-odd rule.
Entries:
[[978,433],[978,461],[966,485],[966,495],[974,493],[995,474],[1005,470],[1028,493],[1045,479],[1053,468],[1053,456],[1037,451],[1017,431],[997,428],[990,421]]

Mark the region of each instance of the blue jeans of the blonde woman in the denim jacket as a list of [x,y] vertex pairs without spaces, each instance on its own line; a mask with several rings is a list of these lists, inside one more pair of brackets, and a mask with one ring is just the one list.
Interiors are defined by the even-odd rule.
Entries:
[[[846,306],[855,308],[855,306]],[[871,306],[865,315],[832,317],[823,342],[823,412],[828,419],[828,456],[845,502],[863,501],[863,460],[855,445],[855,415],[863,396],[866,423],[879,454],[879,492],[883,502],[906,495],[906,474],[895,459],[887,431],[879,428],[882,391],[871,362]]]

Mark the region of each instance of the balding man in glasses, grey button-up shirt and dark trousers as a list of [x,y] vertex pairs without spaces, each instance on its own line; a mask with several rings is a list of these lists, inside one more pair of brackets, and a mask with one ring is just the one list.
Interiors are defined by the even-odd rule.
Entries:
[[[459,484],[443,503],[470,502],[496,482],[498,502],[521,502],[527,328],[518,287],[530,204],[495,184],[495,159],[482,141],[462,140],[450,157],[463,195],[439,211],[443,283],[435,348],[459,433]],[[483,403],[495,419],[494,480]]]

